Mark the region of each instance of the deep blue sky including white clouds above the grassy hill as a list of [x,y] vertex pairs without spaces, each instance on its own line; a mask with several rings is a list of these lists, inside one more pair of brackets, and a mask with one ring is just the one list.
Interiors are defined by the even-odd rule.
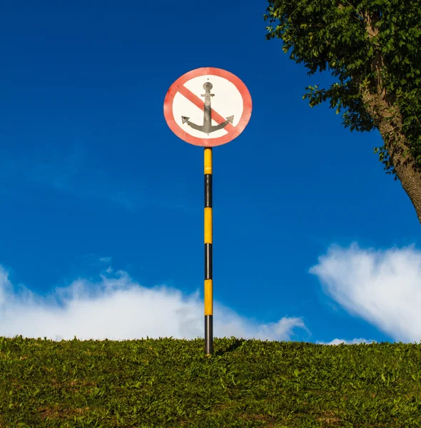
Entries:
[[215,337],[421,340],[420,224],[372,148],[265,40],[265,1],[0,11],[0,335],[203,337],[203,148],[163,117],[224,68],[245,131],[213,150]]

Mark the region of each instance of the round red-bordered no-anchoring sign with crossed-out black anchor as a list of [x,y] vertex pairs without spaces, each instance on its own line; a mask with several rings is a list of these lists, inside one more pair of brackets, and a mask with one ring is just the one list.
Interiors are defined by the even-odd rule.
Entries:
[[171,131],[194,146],[215,147],[243,132],[251,96],[240,79],[221,68],[189,71],[168,89],[163,113]]

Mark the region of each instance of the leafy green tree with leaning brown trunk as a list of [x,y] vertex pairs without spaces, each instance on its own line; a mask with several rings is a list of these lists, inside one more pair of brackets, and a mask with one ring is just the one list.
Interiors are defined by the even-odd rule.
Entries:
[[399,179],[421,223],[420,0],[268,0],[266,39],[290,59],[338,78],[308,86],[310,106],[330,100],[350,131],[378,129],[388,174]]

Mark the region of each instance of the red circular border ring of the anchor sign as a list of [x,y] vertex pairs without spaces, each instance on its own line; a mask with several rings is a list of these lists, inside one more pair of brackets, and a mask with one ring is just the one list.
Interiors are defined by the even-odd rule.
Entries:
[[[235,87],[240,91],[241,97],[243,98],[243,114],[241,115],[240,122],[237,126],[234,127],[233,131],[228,131],[228,134],[218,138],[198,138],[193,137],[186,131],[184,131],[173,115],[173,99],[178,93],[178,87],[182,86],[186,81],[189,81],[191,78],[198,76],[206,76],[206,74],[213,74],[214,76],[219,76],[226,78],[228,81],[233,83]],[[168,89],[166,93],[165,100],[163,102],[163,114],[166,118],[166,123],[170,127],[171,131],[181,138],[186,143],[193,144],[193,146],[202,146],[202,147],[215,147],[221,146],[222,144],[229,143],[233,141],[234,138],[238,137],[240,133],[244,131],[245,126],[247,126],[248,121],[250,121],[251,110],[253,104],[251,101],[250,92],[248,91],[247,86],[240,80],[235,74],[230,73],[229,71],[223,70],[222,68],[215,67],[202,67],[196,68],[195,70],[188,71],[188,73],[183,74],[179,77]]]

